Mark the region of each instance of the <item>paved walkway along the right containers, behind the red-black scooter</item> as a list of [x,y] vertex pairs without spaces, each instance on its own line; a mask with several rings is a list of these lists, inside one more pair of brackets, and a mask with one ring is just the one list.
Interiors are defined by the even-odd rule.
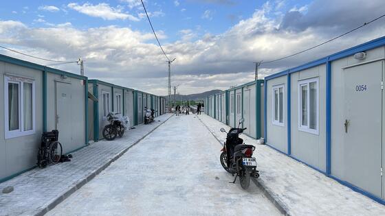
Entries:
[[[223,143],[225,134],[219,129],[228,131],[230,127],[208,115],[199,115],[199,119]],[[249,136],[241,138],[256,146],[254,156],[261,173],[258,182],[289,215],[385,215],[382,204],[267,145],[256,145],[256,140]]]

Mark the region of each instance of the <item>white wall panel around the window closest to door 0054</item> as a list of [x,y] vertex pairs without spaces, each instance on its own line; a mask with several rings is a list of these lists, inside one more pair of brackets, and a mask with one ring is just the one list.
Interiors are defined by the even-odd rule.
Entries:
[[[286,77],[285,77],[286,78]],[[318,134],[299,130],[298,82],[318,78]],[[285,101],[286,103],[286,101]],[[326,171],[326,65],[291,74],[292,156]],[[269,133],[269,130],[267,130]]]

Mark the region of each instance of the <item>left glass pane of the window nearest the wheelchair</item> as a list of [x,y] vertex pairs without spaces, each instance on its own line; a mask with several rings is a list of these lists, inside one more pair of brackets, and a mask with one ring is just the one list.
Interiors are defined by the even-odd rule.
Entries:
[[17,83],[8,83],[8,127],[9,130],[19,130],[19,91]]

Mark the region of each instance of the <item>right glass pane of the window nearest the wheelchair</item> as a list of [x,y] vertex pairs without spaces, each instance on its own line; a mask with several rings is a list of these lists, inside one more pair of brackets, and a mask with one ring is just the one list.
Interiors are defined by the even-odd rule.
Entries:
[[23,121],[24,130],[33,129],[33,118],[32,118],[32,83],[24,82],[23,84]]

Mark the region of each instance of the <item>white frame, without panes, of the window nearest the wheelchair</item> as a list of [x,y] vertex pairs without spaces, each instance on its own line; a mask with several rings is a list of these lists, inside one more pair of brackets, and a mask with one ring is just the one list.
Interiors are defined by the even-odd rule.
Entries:
[[[9,130],[8,84],[19,84],[19,129]],[[32,130],[24,130],[24,83],[32,84]],[[12,139],[36,133],[36,90],[35,80],[20,75],[4,75],[4,138]]]

